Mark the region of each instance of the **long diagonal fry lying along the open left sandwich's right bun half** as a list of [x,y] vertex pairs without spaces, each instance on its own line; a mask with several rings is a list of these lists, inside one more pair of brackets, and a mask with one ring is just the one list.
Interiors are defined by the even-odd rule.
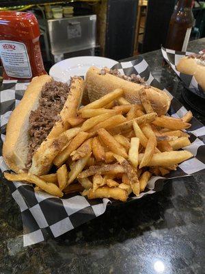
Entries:
[[61,166],[61,164],[64,164],[64,162],[66,162],[66,160],[70,156],[70,153],[77,149],[85,141],[87,136],[89,136],[87,132],[79,132],[79,134],[77,134],[77,136],[72,139],[68,147],[66,147],[66,149],[61,151],[55,157],[55,159],[53,160],[53,164],[55,164],[55,166]]

